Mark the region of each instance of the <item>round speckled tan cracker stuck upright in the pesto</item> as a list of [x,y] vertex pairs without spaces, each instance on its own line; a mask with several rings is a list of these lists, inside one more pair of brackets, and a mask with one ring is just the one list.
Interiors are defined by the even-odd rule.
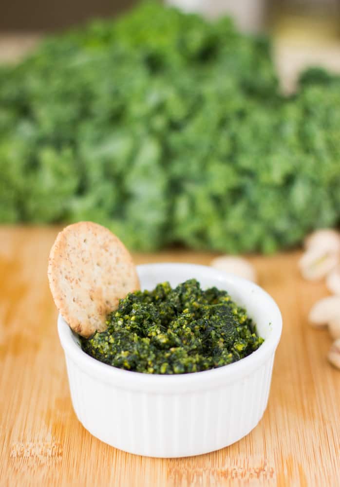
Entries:
[[92,222],[69,225],[58,234],[48,280],[61,316],[83,337],[105,330],[108,313],[139,289],[129,251],[107,228]]

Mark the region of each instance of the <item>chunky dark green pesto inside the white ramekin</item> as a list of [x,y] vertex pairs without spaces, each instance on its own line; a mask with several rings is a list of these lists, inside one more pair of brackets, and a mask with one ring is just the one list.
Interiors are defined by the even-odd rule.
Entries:
[[172,289],[136,291],[108,316],[108,328],[81,347],[101,362],[147,374],[185,374],[221,367],[254,352],[264,339],[227,291],[203,291],[195,279]]

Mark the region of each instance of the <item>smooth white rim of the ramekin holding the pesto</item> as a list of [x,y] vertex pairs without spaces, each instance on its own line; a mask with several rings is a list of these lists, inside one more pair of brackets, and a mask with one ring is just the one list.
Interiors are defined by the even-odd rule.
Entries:
[[[141,279],[143,279],[143,275],[148,274],[150,271],[163,270],[166,273],[170,268],[173,270],[176,267],[179,270],[192,271],[193,277],[195,277],[194,274],[196,271],[196,273],[204,273],[207,277],[217,279],[225,284],[229,283],[235,288],[242,287],[247,293],[255,291],[258,294],[259,300],[265,304],[267,313],[272,316],[272,319],[268,323],[268,326],[270,326],[270,334],[265,338],[262,345],[255,352],[237,362],[215,369],[177,375],[145,374],[119,369],[87,355],[76,343],[76,334],[59,313],[58,335],[66,357],[76,363],[86,375],[90,375],[101,382],[114,384],[115,387],[127,390],[173,393],[210,389],[216,387],[218,384],[242,380],[243,377],[250,375],[253,371],[261,367],[268,360],[268,357],[274,355],[282,333],[282,315],[276,302],[264,289],[254,282],[206,265],[181,262],[158,262],[136,266]],[[199,281],[199,278],[196,277],[196,279]]]

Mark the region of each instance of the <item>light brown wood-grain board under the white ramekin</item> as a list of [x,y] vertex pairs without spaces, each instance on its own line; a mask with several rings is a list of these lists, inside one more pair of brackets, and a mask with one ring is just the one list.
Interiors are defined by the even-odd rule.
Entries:
[[[72,409],[47,257],[57,228],[0,227],[1,486],[339,486],[340,371],[331,339],[307,324],[323,283],[303,281],[299,253],[250,260],[283,313],[269,403],[238,443],[207,455],[153,459],[90,435]],[[135,254],[136,263],[208,264],[213,254]]]

